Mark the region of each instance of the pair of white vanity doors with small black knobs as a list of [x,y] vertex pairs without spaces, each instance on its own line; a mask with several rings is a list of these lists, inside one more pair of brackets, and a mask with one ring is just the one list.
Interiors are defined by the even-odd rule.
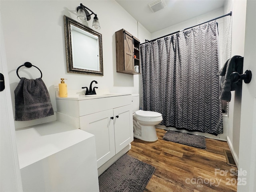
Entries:
[[133,140],[130,105],[79,118],[80,129],[95,135],[98,168]]

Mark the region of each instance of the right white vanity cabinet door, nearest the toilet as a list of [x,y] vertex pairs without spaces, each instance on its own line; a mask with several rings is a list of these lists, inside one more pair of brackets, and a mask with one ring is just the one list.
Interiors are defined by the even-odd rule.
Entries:
[[133,141],[132,105],[114,108],[116,154]]

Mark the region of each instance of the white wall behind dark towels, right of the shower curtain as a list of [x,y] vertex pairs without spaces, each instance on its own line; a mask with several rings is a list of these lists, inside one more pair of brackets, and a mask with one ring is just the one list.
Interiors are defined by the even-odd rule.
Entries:
[[[244,56],[246,0],[228,1],[227,4],[224,6],[224,9],[232,9],[231,56]],[[236,164],[238,164],[239,156],[241,100],[242,88],[231,92],[231,101],[229,103],[229,127],[227,141]]]

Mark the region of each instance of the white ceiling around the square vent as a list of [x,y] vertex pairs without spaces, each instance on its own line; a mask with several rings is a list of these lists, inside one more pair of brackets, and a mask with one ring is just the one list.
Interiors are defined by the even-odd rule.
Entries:
[[165,0],[166,8],[152,12],[154,0],[116,0],[150,33],[224,6],[225,0]]

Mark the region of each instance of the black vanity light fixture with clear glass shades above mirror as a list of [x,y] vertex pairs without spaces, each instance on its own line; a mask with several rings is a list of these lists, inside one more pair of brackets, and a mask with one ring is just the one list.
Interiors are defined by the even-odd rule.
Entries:
[[[99,19],[97,17],[97,14],[95,14],[92,10],[90,10],[89,8],[87,8],[86,6],[84,6],[82,3],[80,3],[80,6],[78,6],[76,8],[77,10],[77,19],[79,21],[89,21],[91,19],[91,15],[94,14],[94,18],[93,18],[93,22],[92,22],[92,28],[95,30],[99,30],[100,29],[100,23],[99,23]],[[91,14],[88,12],[88,10],[90,12],[92,12]]]

